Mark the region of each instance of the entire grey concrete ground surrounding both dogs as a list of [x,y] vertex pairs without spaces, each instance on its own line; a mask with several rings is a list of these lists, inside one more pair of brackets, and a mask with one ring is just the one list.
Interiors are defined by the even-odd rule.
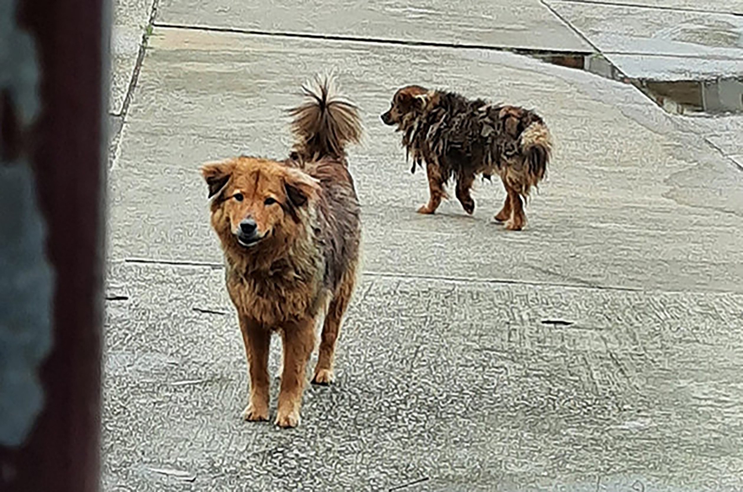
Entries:
[[[138,51],[114,65],[104,490],[743,490],[743,120],[674,117],[503,51],[609,53],[614,27],[588,16],[609,3],[155,4],[138,74]],[[621,3],[669,9],[670,31],[690,11],[743,13]],[[152,8],[120,4],[117,22]],[[655,36],[632,9],[637,38]],[[131,22],[129,39],[148,32]],[[239,418],[244,352],[197,169],[283,158],[282,110],[329,67],[367,130],[351,152],[364,271],[337,383],[279,430]],[[557,152],[527,230],[493,224],[504,192],[487,182],[474,217],[455,201],[415,214],[424,173],[378,120],[406,82],[545,116]]]

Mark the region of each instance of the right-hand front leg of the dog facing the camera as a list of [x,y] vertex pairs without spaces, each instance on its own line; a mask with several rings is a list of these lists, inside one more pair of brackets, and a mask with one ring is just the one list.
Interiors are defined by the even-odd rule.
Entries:
[[283,327],[284,372],[276,412],[276,425],[279,427],[296,427],[299,424],[305,369],[314,347],[314,327],[315,320],[312,318],[288,323]]

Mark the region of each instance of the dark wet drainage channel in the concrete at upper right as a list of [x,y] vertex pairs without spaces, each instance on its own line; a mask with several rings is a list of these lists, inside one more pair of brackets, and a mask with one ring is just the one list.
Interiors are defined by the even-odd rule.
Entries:
[[529,52],[542,62],[575,68],[606,79],[632,84],[671,114],[708,116],[743,114],[743,77],[707,80],[649,80],[626,77],[602,54]]

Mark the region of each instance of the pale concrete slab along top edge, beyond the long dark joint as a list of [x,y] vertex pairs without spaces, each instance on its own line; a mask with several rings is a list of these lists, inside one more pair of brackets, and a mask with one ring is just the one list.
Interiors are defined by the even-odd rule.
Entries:
[[354,38],[444,42],[558,51],[590,51],[568,25],[539,0],[476,0],[452,3],[325,0],[318,2],[239,2],[213,0],[207,9],[198,0],[163,0],[158,22],[176,25],[312,33]]

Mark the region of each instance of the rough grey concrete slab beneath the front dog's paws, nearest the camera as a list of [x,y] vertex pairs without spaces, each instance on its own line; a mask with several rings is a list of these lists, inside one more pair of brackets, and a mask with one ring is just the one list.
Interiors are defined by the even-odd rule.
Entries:
[[[741,465],[741,294],[364,276],[338,381],[309,388],[302,426],[286,432],[240,421],[233,315],[192,310],[232,311],[221,271],[114,276],[132,300],[107,310],[109,326],[129,328],[107,341],[108,490],[387,490],[425,477],[413,490],[593,491],[597,475],[600,490],[741,485],[715,471]],[[162,467],[195,479],[151,470]]]

